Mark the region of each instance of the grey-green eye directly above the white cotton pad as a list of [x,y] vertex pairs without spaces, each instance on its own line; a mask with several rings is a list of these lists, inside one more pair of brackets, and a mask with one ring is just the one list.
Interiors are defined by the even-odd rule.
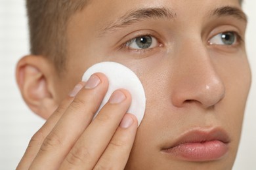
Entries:
[[151,35],[143,35],[140,37],[136,37],[135,39],[131,39],[131,41],[126,42],[125,46],[128,48],[141,50],[147,48],[154,48],[158,46],[158,41],[156,38]]

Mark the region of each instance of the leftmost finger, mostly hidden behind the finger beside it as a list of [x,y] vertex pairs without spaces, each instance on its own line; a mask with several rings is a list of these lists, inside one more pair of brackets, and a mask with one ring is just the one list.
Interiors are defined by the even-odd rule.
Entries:
[[17,169],[28,169],[30,167],[33,159],[35,158],[37,152],[41,147],[41,144],[45,140],[45,137],[49,135],[49,133],[56,125],[62,114],[68,108],[68,105],[72,103],[75,93],[79,92],[79,90],[81,90],[81,88],[84,85],[85,82],[79,82],[75,86],[74,90],[72,90],[72,93],[70,93],[70,96],[66,97],[66,99],[64,99],[64,101],[60,103],[58,108],[48,118],[47,122],[45,122],[45,124],[43,124],[43,126],[33,135],[32,139],[30,140],[30,143],[28,144],[26,152],[22,157],[22,160],[20,160],[20,163],[18,164]]

